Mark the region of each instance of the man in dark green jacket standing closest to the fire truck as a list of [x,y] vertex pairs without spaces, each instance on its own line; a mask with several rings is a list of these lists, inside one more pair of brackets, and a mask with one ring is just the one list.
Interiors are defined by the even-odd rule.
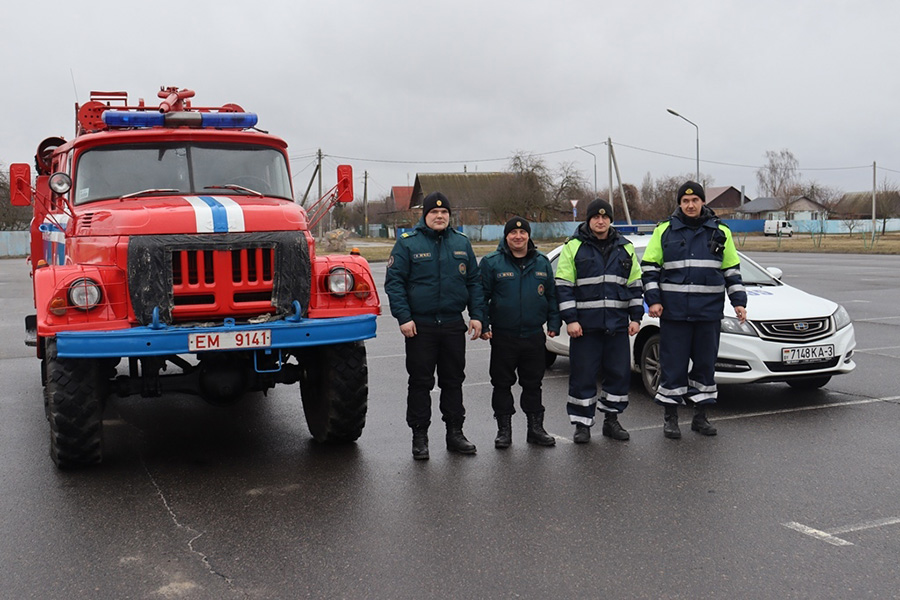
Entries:
[[475,454],[475,444],[462,431],[466,416],[462,397],[466,324],[462,312],[468,307],[468,332],[471,339],[478,338],[484,297],[472,244],[450,227],[450,202],[441,192],[425,197],[422,219],[394,244],[384,289],[391,314],[406,338],[406,422],[413,431],[413,458],[428,458],[435,369],[441,415],[447,424],[447,450]]

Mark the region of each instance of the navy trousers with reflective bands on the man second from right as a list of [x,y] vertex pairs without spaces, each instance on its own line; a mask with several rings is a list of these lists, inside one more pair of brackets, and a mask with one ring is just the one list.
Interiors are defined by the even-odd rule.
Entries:
[[600,410],[620,413],[628,406],[631,349],[628,331],[587,331],[569,340],[569,421],[590,427],[597,410],[597,376],[603,380]]

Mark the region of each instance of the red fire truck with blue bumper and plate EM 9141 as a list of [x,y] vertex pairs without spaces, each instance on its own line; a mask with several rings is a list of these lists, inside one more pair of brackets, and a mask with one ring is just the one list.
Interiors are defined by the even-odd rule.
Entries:
[[27,164],[10,167],[12,203],[34,206],[26,343],[41,360],[54,462],[101,461],[111,394],[228,404],[299,382],[313,437],[356,440],[363,340],[381,305],[366,260],[317,256],[310,233],[353,199],[350,167],[307,211],[287,144],[255,114],[192,106],[191,90],[158,96],[132,106],[124,92],[92,92],[74,139],[38,146],[34,180]]

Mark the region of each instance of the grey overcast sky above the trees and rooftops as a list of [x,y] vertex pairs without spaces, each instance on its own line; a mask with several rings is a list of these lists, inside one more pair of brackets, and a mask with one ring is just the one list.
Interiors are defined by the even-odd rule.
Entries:
[[767,150],[844,191],[900,182],[900,2],[353,0],[5,2],[0,163],[74,133],[75,102],[160,86],[240,104],[290,145],[354,168],[357,196],[418,172],[497,171],[524,151],[588,182],[700,170],[757,195]]

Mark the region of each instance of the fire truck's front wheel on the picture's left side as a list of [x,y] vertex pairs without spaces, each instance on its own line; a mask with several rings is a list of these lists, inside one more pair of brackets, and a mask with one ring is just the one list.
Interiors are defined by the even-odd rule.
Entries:
[[57,358],[48,340],[44,401],[50,421],[50,456],[60,469],[99,463],[103,458],[103,395],[99,362]]

